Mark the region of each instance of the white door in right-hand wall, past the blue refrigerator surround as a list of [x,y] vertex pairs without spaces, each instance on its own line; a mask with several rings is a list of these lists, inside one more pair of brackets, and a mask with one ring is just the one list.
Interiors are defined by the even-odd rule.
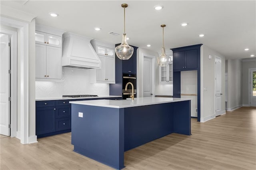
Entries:
[[221,58],[215,57],[215,116],[221,115]]

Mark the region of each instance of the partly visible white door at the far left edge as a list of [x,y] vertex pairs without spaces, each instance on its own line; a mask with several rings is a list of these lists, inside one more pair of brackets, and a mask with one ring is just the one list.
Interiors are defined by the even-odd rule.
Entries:
[[0,134],[10,136],[10,47],[9,37],[0,34]]

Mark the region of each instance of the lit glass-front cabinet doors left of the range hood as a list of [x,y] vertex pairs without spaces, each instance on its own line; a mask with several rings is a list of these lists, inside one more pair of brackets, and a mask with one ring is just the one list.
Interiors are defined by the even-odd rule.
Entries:
[[53,47],[61,47],[61,36],[36,31],[35,38],[36,43],[50,45]]

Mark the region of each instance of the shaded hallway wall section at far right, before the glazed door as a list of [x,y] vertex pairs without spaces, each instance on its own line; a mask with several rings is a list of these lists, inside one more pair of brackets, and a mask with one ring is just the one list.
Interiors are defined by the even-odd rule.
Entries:
[[242,61],[228,59],[228,102],[227,110],[242,107]]

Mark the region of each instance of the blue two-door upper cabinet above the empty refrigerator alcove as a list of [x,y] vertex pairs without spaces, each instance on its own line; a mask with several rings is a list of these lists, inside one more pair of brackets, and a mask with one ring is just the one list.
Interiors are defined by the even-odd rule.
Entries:
[[198,55],[197,49],[178,51],[173,53],[174,70],[194,70],[197,68]]

